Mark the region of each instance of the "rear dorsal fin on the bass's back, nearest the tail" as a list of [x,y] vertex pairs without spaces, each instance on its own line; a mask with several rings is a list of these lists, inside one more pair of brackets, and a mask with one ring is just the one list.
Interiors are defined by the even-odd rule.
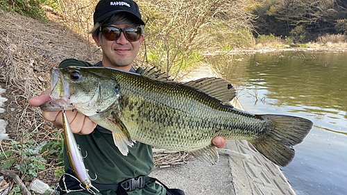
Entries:
[[235,88],[223,78],[200,78],[198,80],[183,83],[183,85],[194,87],[196,90],[219,99],[221,102],[232,101],[236,96]]

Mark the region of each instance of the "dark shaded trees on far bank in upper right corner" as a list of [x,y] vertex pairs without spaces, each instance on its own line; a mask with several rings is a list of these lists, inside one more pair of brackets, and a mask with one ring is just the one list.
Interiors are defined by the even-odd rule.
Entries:
[[253,10],[255,37],[274,34],[294,42],[312,42],[320,36],[347,34],[347,1],[271,0]]

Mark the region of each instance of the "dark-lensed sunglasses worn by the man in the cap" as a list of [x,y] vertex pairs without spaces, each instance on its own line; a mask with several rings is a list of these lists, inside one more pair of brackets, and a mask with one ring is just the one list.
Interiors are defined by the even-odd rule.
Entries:
[[100,31],[103,33],[103,37],[109,41],[118,40],[121,37],[121,31],[123,31],[126,40],[130,42],[138,41],[142,35],[140,27],[117,28],[115,26],[105,26],[100,27]]

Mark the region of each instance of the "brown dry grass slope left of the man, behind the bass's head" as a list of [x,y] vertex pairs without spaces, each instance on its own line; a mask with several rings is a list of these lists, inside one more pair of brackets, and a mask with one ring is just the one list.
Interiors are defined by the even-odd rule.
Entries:
[[49,70],[66,58],[97,62],[101,51],[54,22],[42,24],[15,13],[0,20],[1,74],[15,107],[22,108],[17,128],[37,129],[40,111],[27,100],[49,87]]

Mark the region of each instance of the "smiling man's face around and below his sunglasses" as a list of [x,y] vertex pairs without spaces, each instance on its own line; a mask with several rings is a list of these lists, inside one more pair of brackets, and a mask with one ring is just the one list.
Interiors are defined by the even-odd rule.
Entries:
[[[125,24],[112,26],[123,29],[134,27]],[[115,41],[105,40],[103,35],[101,35],[101,42],[99,42],[99,37],[93,38],[96,44],[101,46],[101,49],[103,50],[104,67],[112,67],[129,71],[131,65],[133,65],[133,60],[136,58],[137,53],[139,52],[139,48],[144,40],[144,35],[141,35],[140,39],[136,42],[128,41],[124,36],[124,32],[121,32],[119,39]]]

